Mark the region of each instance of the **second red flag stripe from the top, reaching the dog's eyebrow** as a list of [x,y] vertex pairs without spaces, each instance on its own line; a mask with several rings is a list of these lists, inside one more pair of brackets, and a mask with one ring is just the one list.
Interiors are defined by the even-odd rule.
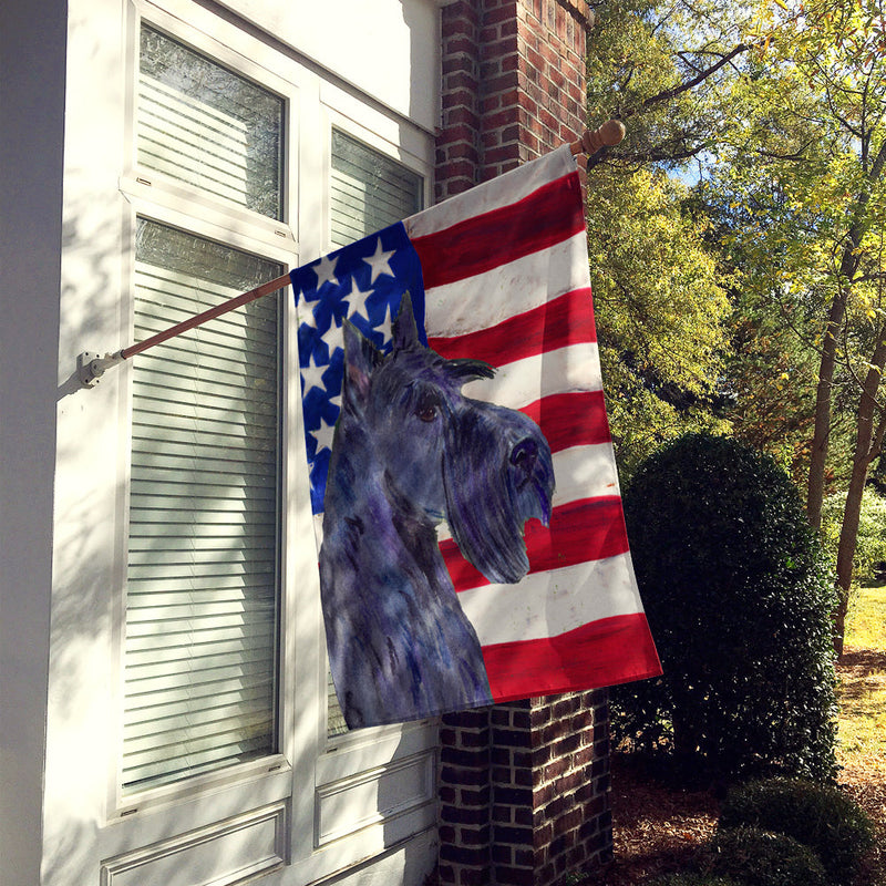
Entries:
[[449,360],[468,357],[495,367],[545,351],[597,341],[590,287],[574,289],[488,329],[453,338],[429,338],[429,347]]

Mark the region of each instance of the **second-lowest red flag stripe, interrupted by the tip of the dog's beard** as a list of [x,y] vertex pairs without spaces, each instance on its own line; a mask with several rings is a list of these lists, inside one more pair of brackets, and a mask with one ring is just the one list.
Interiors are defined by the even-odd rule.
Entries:
[[[588,560],[615,557],[628,549],[628,534],[621,513],[621,498],[606,495],[579,498],[554,508],[550,525],[530,519],[524,530],[529,571],[562,569]],[[488,585],[488,579],[475,569],[459,550],[452,538],[440,544],[440,552],[450,570],[455,590]]]

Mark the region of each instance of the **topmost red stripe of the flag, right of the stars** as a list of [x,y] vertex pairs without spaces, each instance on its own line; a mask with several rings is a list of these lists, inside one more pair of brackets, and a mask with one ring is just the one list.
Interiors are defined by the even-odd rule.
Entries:
[[547,249],[585,229],[578,173],[521,200],[414,237],[424,288],[453,284]]

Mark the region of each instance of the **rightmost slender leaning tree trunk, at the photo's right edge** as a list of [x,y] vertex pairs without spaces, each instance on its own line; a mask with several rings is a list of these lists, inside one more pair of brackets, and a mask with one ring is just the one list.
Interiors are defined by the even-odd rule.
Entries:
[[[870,463],[879,454],[883,445],[883,434],[886,422],[880,408],[877,405],[877,390],[879,389],[883,367],[886,363],[886,329],[879,332],[877,347],[870,360],[870,368],[862,388],[862,398],[858,403],[858,420],[855,434],[855,451],[853,452],[852,476],[849,488],[846,493],[846,506],[843,511],[843,525],[839,530],[839,545],[837,547],[837,608],[834,614],[834,650],[837,656],[843,655],[843,638],[846,630],[846,610],[849,605],[849,588],[852,587],[852,562],[858,540],[858,522],[862,514],[862,495],[867,482],[867,471]],[[880,413],[876,427],[874,422]]]

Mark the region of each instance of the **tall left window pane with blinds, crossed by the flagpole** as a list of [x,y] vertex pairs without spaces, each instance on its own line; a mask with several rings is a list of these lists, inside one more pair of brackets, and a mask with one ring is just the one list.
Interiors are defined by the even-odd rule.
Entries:
[[[140,219],[135,340],[281,274]],[[277,750],[279,293],[133,360],[125,791]]]

